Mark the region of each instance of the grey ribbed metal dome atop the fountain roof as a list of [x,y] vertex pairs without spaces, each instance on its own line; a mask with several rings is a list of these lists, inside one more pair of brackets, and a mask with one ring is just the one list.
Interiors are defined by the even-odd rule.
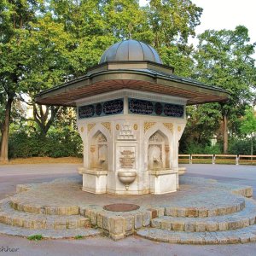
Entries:
[[106,61],[153,61],[163,62],[157,51],[148,44],[137,40],[125,40],[110,46],[102,55],[99,64]]

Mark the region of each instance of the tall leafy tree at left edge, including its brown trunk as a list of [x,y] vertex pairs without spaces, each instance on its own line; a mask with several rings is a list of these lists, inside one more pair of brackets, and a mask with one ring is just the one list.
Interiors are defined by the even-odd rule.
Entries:
[[36,0],[3,0],[0,3],[0,86],[3,105],[1,120],[0,160],[8,160],[9,122],[12,103],[22,90],[24,64],[27,52],[23,48],[26,28],[35,20],[39,2]]

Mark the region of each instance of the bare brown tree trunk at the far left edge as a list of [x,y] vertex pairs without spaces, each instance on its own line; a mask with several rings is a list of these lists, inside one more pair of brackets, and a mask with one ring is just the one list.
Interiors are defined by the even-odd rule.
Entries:
[[0,162],[8,161],[8,143],[9,143],[9,119],[12,108],[12,103],[14,101],[13,97],[8,97],[8,101],[5,105],[5,116],[3,120],[3,125],[1,127],[1,154],[0,154]]

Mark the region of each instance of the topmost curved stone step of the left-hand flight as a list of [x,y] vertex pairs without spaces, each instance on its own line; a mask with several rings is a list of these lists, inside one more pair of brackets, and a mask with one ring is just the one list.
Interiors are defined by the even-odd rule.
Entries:
[[47,215],[78,215],[80,213],[80,208],[78,206],[67,206],[64,207],[63,204],[59,207],[55,206],[42,206],[39,204],[32,204],[29,201],[21,200],[20,198],[11,197],[10,207],[13,207],[16,211],[29,212],[37,214],[47,214]]

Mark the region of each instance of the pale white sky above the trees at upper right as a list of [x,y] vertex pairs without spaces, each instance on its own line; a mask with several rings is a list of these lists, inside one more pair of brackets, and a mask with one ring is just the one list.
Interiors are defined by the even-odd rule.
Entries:
[[[191,0],[203,9],[201,25],[195,29],[196,34],[207,29],[234,30],[236,26],[246,26],[251,43],[256,42],[256,0]],[[146,0],[140,0],[143,5]],[[191,40],[196,44],[196,40]],[[256,54],[253,55],[256,59]]]

